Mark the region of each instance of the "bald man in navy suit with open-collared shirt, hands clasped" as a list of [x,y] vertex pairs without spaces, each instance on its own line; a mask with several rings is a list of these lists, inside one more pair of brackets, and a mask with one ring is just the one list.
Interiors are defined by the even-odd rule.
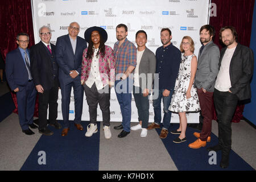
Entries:
[[82,130],[82,100],[84,88],[81,85],[82,52],[87,47],[86,41],[77,36],[80,26],[72,22],[68,27],[68,35],[57,38],[55,56],[59,64],[59,81],[61,89],[61,109],[63,115],[64,129],[61,136],[68,134],[69,130],[69,104],[71,88],[74,90],[75,98],[75,126]]

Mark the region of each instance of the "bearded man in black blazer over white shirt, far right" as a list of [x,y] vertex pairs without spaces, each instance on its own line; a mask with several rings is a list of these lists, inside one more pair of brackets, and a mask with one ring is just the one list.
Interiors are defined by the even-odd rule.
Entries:
[[237,42],[234,27],[220,30],[220,40],[225,44],[221,57],[217,80],[214,86],[214,105],[218,118],[218,145],[208,151],[222,151],[222,168],[229,166],[232,129],[231,121],[238,100],[251,98],[250,79],[253,76],[253,51]]

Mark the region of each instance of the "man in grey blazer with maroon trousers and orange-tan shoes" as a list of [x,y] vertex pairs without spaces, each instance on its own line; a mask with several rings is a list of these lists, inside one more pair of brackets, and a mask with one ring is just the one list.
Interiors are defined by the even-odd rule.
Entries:
[[218,61],[220,60],[220,50],[212,41],[214,35],[214,27],[209,24],[200,28],[200,41],[203,46],[199,51],[195,84],[204,121],[201,133],[194,133],[198,139],[188,145],[190,148],[204,147],[207,142],[210,142],[213,118],[213,91],[218,74]]

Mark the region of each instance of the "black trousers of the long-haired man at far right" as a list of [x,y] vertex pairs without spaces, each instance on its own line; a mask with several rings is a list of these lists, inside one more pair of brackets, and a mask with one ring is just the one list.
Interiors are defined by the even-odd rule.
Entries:
[[231,122],[237,101],[235,94],[214,89],[214,106],[218,118],[218,143],[222,147],[222,155],[229,155],[231,150]]

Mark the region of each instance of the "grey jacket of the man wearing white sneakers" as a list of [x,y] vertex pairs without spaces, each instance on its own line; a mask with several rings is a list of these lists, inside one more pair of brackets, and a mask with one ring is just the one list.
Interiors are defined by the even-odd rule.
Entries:
[[[146,76],[146,82],[142,82],[142,79],[139,79],[139,87],[141,87],[142,91],[147,88],[150,89],[152,88],[152,84],[154,82],[154,73],[155,73],[155,68],[156,68],[156,57],[155,54],[150,51],[146,47],[146,49],[143,52],[143,55],[141,57],[141,62],[139,63],[139,75],[142,73],[145,74]],[[151,75],[151,80],[148,79]],[[142,76],[143,78],[143,76]],[[144,80],[143,80],[144,81]]]

